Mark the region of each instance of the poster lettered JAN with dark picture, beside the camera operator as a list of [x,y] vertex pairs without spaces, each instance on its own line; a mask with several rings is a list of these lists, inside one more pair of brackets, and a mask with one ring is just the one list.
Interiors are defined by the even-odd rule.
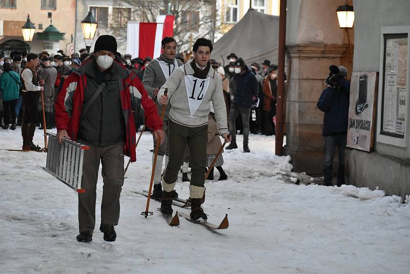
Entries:
[[347,126],[347,146],[373,147],[377,72],[353,72]]

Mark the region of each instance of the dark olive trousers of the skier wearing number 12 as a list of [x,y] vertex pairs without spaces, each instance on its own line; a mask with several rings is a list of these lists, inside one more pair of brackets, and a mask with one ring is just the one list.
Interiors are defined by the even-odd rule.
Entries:
[[203,187],[207,162],[208,125],[186,127],[169,121],[169,162],[163,180],[168,184],[177,181],[187,145],[190,151],[191,185]]

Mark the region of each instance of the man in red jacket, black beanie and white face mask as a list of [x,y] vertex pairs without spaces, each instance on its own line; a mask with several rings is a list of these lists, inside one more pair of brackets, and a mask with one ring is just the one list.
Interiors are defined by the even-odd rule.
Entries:
[[145,117],[154,137],[164,139],[163,123],[155,103],[136,75],[114,60],[117,42],[101,35],[94,55],[64,82],[55,104],[57,139],[63,137],[89,145],[84,154],[78,193],[77,241],[92,241],[99,163],[103,165],[103,200],[100,231],[105,241],[115,241],[119,219],[119,197],[124,184],[124,154],[136,161],[133,111]]

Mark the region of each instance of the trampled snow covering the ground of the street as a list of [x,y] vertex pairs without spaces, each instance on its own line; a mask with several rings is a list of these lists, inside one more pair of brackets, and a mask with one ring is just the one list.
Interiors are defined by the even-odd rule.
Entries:
[[[0,130],[0,148],[20,148],[19,127]],[[42,144],[40,130],[35,143]],[[238,136],[241,144],[241,136]],[[250,136],[223,156],[229,180],[207,181],[209,221],[229,214],[230,227],[210,231],[180,218],[170,227],[158,212],[140,216],[148,189],[151,135],[137,148],[121,195],[117,241],[99,232],[79,243],[75,192],[40,169],[46,153],[0,150],[0,273],[408,273],[410,205],[381,190],[285,183],[285,157],[272,137]],[[126,162],[128,158],[126,158]],[[219,173],[215,171],[215,177]],[[177,183],[180,197],[187,183]],[[151,210],[159,203],[152,201]],[[174,210],[187,209],[175,208]]]

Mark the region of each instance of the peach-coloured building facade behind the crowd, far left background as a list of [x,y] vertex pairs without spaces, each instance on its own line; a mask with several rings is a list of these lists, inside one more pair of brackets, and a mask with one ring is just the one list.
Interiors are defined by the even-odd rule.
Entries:
[[[47,50],[56,53],[63,50],[66,54],[74,50],[76,0],[2,0],[0,2],[0,50],[8,55],[12,50],[30,50],[41,52]],[[39,40],[37,33],[44,32],[52,25],[60,33],[63,40]],[[32,42],[24,42],[22,26],[27,21],[27,14],[36,27]]]

